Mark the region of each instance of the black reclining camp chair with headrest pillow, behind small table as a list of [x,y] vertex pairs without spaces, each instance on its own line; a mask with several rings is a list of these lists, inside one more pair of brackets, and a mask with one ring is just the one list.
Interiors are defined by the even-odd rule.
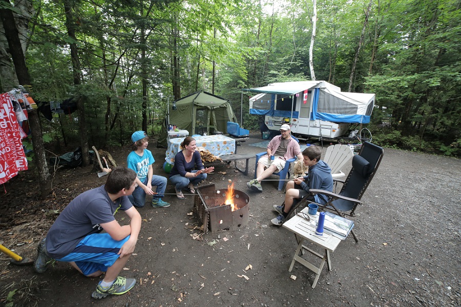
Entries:
[[[345,215],[354,216],[355,209],[357,209],[359,203],[362,203],[360,199],[370,184],[376,170],[378,170],[383,155],[384,149],[382,147],[371,144],[370,142],[364,142],[359,154],[352,158],[352,169],[346,180],[343,181],[333,178],[334,181],[343,183],[343,187],[338,194],[316,189],[309,190],[313,195],[323,194],[328,197],[328,202],[324,205],[319,205],[319,210],[328,210],[342,217],[345,217]],[[305,206],[307,203],[312,202],[307,199],[308,196],[301,199],[297,204],[294,204],[288,216],[290,216],[297,207],[303,204]],[[353,231],[351,231],[351,234],[355,242],[359,242],[359,239]]]

